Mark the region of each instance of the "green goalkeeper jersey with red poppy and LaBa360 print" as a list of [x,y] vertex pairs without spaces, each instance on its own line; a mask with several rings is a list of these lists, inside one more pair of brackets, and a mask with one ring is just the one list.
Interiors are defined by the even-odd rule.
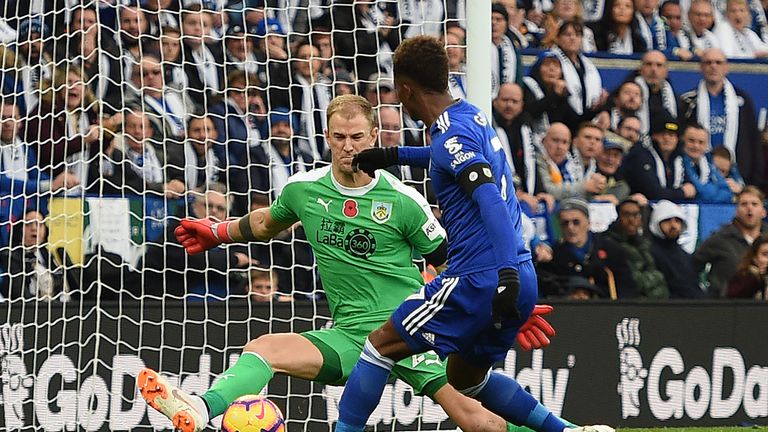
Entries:
[[413,252],[430,253],[445,239],[424,197],[383,170],[360,188],[339,184],[330,166],[295,174],[270,211],[304,226],[342,328],[386,321],[423,285]]

